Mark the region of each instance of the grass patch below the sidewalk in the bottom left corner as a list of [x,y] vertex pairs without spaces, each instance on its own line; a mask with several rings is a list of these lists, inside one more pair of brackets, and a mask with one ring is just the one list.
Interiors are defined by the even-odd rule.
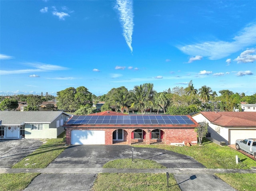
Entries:
[[0,191],[21,191],[38,176],[39,173],[0,174]]

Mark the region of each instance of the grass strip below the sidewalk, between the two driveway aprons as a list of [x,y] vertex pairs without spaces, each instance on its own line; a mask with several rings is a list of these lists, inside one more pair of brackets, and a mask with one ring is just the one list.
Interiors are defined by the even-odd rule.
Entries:
[[180,191],[174,176],[170,174],[169,187],[165,173],[100,173],[93,191]]

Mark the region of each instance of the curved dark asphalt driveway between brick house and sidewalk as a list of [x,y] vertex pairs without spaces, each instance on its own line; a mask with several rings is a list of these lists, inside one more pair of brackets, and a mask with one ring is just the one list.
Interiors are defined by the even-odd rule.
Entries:
[[[168,168],[205,168],[189,156],[156,148],[134,147],[134,158],[151,159]],[[99,168],[108,161],[132,158],[132,147],[128,145],[70,146],[60,154],[48,168]]]

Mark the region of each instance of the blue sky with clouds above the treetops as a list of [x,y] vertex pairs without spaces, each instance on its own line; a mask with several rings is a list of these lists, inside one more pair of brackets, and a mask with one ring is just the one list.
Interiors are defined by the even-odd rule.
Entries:
[[1,0],[0,94],[162,92],[192,80],[253,95],[255,10],[254,0]]

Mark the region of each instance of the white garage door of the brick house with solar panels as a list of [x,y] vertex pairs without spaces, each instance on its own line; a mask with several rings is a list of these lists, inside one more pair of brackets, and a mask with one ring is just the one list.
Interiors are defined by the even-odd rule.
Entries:
[[72,145],[104,145],[105,131],[102,130],[72,130]]

